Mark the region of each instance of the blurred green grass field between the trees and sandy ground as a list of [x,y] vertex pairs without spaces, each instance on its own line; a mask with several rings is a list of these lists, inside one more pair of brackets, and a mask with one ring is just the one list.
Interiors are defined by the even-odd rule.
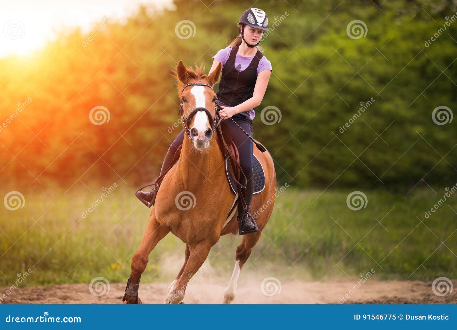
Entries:
[[[85,219],[82,213],[100,196],[87,189],[23,192],[22,209],[2,205],[0,286],[11,285],[28,268],[27,285],[84,283],[99,276],[126,281],[150,211],[132,191],[118,187]],[[378,279],[455,278],[454,196],[425,219],[444,189],[407,195],[364,191],[367,207],[358,211],[346,205],[351,191],[286,189],[247,268],[288,279],[356,278],[372,268]],[[213,247],[207,262],[214,276],[230,277],[240,240],[223,236]],[[183,259],[184,244],[170,234],[150,254],[143,278],[170,281]]]

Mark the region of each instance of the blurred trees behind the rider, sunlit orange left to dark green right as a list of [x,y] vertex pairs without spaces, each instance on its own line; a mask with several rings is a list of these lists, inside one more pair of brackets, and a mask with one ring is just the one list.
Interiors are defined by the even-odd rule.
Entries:
[[[278,181],[303,188],[454,184],[456,120],[437,125],[432,112],[457,110],[457,22],[445,24],[457,17],[456,1],[295,2],[256,4],[274,30],[261,42],[273,74],[255,109],[254,137],[273,155]],[[208,71],[249,7],[221,0],[141,7],[85,46],[102,21],[89,33],[62,31],[29,57],[1,59],[2,186],[153,181],[181,130],[173,128],[171,69],[182,60]],[[183,20],[195,25],[193,37],[177,37]],[[366,24],[365,37],[348,36],[355,20]],[[96,106],[109,110],[103,125],[90,121]],[[267,106],[281,112],[274,125],[261,120]]]

